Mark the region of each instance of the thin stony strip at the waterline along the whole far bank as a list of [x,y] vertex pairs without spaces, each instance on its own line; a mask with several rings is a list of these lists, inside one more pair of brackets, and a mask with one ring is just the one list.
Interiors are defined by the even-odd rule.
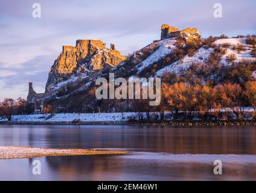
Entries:
[[239,125],[256,125],[256,121],[0,121],[0,125],[152,125],[152,126],[239,126]]

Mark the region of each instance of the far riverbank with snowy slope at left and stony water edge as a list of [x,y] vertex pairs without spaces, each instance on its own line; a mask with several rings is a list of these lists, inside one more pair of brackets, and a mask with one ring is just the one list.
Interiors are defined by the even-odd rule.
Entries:
[[[166,113],[167,114],[167,113]],[[167,114],[168,115],[168,114]],[[190,120],[150,120],[138,121],[137,113],[59,113],[48,115],[14,115],[12,121],[0,119],[6,125],[256,125],[255,120],[240,121],[190,121]],[[146,118],[146,115],[144,116]],[[168,117],[168,116],[167,116]],[[168,118],[167,118],[168,119]]]

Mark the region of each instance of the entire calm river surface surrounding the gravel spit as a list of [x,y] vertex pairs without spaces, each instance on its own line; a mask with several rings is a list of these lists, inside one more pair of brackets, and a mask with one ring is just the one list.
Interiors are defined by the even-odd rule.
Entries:
[[[256,180],[255,126],[0,125],[0,146],[14,145],[130,154],[0,160],[0,180]],[[213,174],[214,160],[222,175]]]

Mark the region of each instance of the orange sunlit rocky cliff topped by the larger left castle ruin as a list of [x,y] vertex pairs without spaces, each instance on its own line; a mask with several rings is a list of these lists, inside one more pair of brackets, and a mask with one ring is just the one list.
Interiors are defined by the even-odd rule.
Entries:
[[85,77],[92,72],[117,66],[125,59],[115,45],[106,48],[101,40],[77,40],[75,46],[63,46],[49,73],[45,92],[74,74]]

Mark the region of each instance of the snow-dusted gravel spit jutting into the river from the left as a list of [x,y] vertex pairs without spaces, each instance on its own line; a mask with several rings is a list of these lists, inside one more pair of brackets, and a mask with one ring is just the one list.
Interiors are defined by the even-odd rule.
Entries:
[[0,159],[22,159],[46,156],[85,156],[99,154],[127,154],[125,151],[100,151],[86,149],[43,149],[32,147],[0,147]]

